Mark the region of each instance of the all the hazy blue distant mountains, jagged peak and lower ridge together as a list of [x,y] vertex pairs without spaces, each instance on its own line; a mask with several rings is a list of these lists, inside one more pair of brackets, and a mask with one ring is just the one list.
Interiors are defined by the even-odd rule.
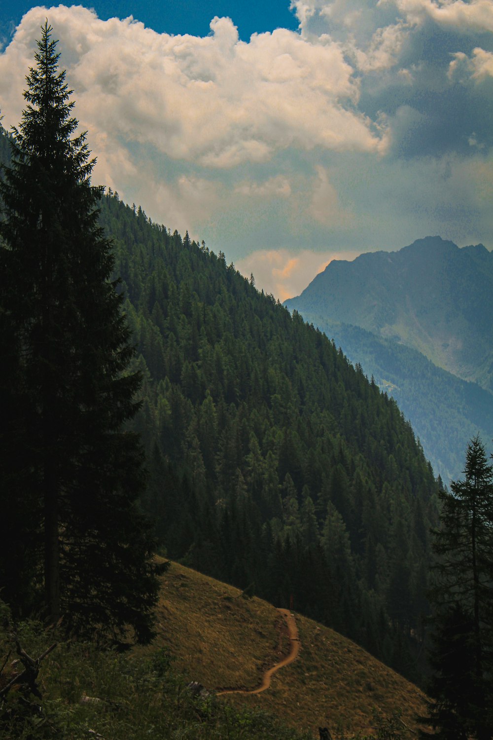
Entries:
[[285,306],[392,393],[448,479],[462,470],[464,440],[493,434],[492,288],[482,244],[428,237],[334,260]]

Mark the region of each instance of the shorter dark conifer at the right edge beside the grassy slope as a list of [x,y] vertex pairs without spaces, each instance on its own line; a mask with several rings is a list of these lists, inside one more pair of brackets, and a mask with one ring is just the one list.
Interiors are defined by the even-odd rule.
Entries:
[[431,724],[444,739],[493,734],[493,469],[468,445],[464,480],[441,491],[434,533]]

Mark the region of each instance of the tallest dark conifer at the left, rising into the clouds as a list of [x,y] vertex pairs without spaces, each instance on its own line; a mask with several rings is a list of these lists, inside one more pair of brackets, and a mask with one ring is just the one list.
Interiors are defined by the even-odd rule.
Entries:
[[123,429],[140,378],[51,32],[0,181],[0,585],[18,611],[145,640],[157,586],[137,509],[143,453]]

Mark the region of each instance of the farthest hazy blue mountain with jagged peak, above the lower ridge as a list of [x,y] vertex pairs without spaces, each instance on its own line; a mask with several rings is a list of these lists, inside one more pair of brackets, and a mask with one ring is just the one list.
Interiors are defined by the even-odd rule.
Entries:
[[493,389],[493,255],[427,237],[398,252],[334,260],[289,309],[361,326]]

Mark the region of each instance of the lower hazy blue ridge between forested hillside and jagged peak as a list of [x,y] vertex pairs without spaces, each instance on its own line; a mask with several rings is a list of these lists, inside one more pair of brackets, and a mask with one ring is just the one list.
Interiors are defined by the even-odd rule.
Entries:
[[466,442],[493,438],[493,395],[435,366],[415,349],[358,326],[305,313],[354,364],[392,395],[418,435],[435,474],[447,485],[461,476]]

